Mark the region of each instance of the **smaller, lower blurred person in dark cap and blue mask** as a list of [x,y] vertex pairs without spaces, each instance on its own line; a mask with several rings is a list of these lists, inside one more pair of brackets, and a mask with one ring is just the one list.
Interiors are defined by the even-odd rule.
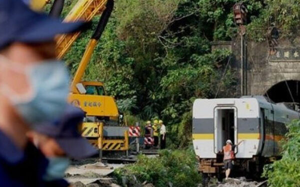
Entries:
[[70,184],[63,179],[70,158],[82,159],[97,153],[77,131],[84,112],[68,105],[62,118],[55,124],[37,125],[27,133],[29,139],[48,158],[49,164],[43,176],[46,187],[67,187]]

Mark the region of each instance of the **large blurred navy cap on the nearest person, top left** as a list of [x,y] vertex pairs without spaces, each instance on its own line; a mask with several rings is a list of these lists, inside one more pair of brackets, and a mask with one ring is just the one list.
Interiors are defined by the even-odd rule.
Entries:
[[14,41],[51,41],[57,34],[75,32],[85,26],[85,22],[63,23],[35,12],[22,0],[0,0],[0,48]]

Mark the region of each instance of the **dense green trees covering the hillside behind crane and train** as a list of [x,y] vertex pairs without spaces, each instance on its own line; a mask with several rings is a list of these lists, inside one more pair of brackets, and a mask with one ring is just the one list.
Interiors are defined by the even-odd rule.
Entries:
[[[115,0],[84,79],[103,81],[128,123],[161,118],[173,145],[186,146],[193,100],[235,96],[237,72],[230,63],[225,68],[230,52],[211,51],[211,41],[237,36],[235,1]],[[281,36],[296,33],[298,0],[243,1],[249,10],[249,39],[265,39],[270,16]],[[75,2],[66,0],[63,16]],[[93,19],[92,28],[98,19]],[[82,33],[65,55],[72,73],[91,34],[92,29]]]

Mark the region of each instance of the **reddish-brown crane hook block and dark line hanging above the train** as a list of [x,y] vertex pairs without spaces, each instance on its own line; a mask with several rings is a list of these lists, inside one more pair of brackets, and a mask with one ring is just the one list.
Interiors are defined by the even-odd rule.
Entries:
[[240,35],[240,94],[247,94],[247,43],[245,40],[247,8],[242,2],[233,5],[234,23],[239,27]]

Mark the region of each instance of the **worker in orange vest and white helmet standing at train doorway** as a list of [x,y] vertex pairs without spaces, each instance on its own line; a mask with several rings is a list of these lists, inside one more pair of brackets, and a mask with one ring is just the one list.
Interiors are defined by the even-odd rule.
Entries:
[[224,153],[224,169],[225,169],[225,180],[228,179],[230,171],[233,169],[234,164],[234,149],[238,146],[243,140],[239,141],[236,145],[232,145],[232,141],[228,139],[226,145],[223,146],[221,152]]

